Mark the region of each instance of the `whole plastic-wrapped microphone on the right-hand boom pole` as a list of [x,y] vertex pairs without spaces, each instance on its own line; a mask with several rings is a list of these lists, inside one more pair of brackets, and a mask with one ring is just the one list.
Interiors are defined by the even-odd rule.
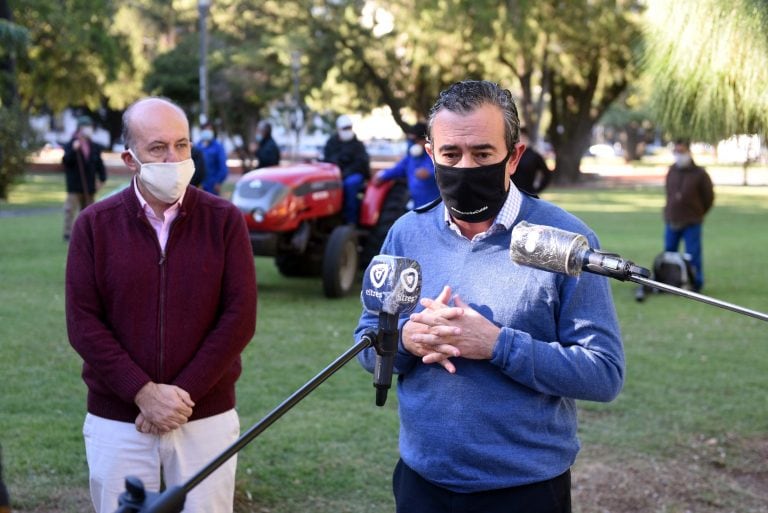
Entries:
[[518,264],[568,276],[579,276],[581,271],[621,281],[631,276],[651,276],[650,270],[616,253],[590,248],[589,241],[581,234],[526,221],[512,229],[509,254]]

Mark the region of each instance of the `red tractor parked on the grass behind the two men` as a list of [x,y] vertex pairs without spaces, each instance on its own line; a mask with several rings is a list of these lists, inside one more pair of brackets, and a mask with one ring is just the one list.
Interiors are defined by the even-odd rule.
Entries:
[[335,164],[304,162],[244,174],[232,202],[245,216],[254,255],[274,257],[283,276],[321,276],[325,295],[341,297],[379,253],[409,199],[403,182],[369,181],[360,219],[351,225],[342,221],[342,194]]

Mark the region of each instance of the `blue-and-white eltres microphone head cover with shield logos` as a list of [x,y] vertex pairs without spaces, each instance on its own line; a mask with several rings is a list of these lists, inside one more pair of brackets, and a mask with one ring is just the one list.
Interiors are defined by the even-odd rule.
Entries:
[[416,260],[376,255],[363,275],[360,300],[373,313],[399,315],[416,307],[421,296],[421,266]]

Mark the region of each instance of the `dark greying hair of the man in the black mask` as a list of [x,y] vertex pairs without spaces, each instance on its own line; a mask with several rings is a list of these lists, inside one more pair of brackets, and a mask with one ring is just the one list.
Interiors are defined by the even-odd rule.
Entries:
[[504,115],[504,140],[507,151],[512,151],[520,140],[520,118],[512,93],[494,82],[487,80],[464,80],[443,90],[429,111],[427,137],[431,140],[435,116],[443,109],[457,113],[468,113],[482,105],[495,105]]

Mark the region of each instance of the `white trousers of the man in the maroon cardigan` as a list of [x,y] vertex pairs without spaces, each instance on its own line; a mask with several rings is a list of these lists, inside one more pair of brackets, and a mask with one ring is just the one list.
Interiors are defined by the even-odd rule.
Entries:
[[[96,513],[114,513],[125,491],[126,476],[136,476],[147,491],[183,485],[232,445],[240,419],[232,409],[187,422],[164,435],[140,433],[133,423],[108,420],[90,413],[83,437],[90,472],[91,500]],[[188,494],[184,513],[232,513],[237,455]]]

